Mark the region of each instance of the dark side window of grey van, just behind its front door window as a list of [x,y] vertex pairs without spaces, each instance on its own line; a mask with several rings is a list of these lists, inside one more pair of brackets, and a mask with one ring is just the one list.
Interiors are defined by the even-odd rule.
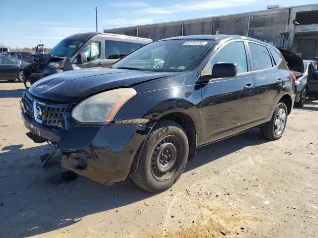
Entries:
[[127,41],[105,41],[106,59],[120,59],[126,56],[128,51]]

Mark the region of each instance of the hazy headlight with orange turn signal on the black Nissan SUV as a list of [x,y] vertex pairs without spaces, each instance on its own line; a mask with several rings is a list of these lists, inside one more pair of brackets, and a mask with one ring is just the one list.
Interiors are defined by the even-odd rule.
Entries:
[[73,109],[72,118],[88,124],[112,121],[119,109],[136,94],[133,88],[119,88],[98,93],[80,102]]

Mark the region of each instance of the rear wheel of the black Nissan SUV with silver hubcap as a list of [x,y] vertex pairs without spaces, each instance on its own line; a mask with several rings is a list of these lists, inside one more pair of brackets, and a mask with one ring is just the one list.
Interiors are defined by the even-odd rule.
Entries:
[[[285,116],[283,116],[283,114]],[[284,130],[286,128],[287,114],[288,114],[288,110],[287,110],[286,104],[280,101],[274,110],[272,119],[269,122],[267,122],[265,125],[260,127],[261,136],[267,140],[280,139],[283,136]],[[284,123],[278,124],[278,122],[280,123],[284,122]]]

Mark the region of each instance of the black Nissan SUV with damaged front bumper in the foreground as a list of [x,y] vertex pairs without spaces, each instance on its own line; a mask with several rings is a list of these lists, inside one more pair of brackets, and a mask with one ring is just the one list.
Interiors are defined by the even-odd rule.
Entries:
[[[196,148],[254,127],[279,139],[295,82],[280,52],[252,38],[182,36],[150,43],[112,68],[50,75],[25,91],[22,119],[62,167],[151,192],[181,176]],[[230,145],[231,146],[231,145]]]

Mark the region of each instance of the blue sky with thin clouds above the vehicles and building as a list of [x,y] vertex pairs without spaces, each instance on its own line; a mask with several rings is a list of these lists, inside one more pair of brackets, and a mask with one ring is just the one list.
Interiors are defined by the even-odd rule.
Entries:
[[79,32],[317,3],[317,0],[0,0],[0,43],[54,47]]

